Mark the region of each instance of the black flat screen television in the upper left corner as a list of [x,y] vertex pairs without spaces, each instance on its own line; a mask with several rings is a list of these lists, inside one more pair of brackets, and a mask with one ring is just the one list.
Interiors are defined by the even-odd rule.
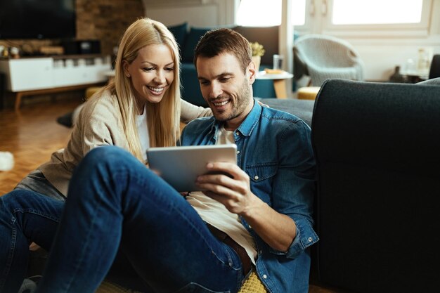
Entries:
[[75,0],[0,0],[0,39],[71,39]]

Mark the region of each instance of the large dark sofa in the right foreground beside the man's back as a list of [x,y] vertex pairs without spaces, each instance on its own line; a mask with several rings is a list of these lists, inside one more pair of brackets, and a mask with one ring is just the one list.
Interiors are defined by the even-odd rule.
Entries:
[[439,292],[440,79],[328,80],[311,127],[321,238],[311,283],[332,287],[325,292]]

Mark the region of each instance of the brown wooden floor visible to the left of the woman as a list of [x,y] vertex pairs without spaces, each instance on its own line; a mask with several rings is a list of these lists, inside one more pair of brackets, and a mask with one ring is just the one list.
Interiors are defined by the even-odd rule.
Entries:
[[0,171],[0,195],[48,161],[53,151],[64,148],[71,129],[58,124],[56,118],[71,112],[79,103],[80,100],[57,100],[25,105],[20,113],[0,111],[0,151],[12,152],[15,159],[11,171]]

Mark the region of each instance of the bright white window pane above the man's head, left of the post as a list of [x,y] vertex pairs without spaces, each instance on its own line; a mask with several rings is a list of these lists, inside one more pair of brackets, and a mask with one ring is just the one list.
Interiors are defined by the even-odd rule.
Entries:
[[281,0],[241,0],[237,23],[247,27],[280,25],[281,7]]

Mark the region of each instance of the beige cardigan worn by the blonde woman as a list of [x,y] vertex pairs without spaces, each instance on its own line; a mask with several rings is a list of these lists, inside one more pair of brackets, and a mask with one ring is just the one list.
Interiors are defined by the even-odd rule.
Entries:
[[[47,180],[65,196],[73,169],[89,150],[101,145],[117,145],[128,150],[116,96],[105,92],[103,96],[93,99],[96,98],[99,99],[97,103],[84,104],[67,146],[53,152],[51,159],[38,167]],[[211,115],[209,108],[181,100],[182,122]]]

